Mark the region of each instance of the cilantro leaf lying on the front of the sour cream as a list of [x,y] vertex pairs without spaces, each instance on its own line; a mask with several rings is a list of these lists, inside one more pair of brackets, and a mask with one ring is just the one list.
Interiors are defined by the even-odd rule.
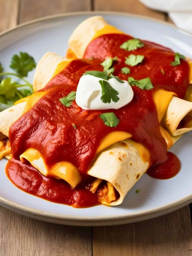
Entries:
[[119,94],[119,92],[117,92],[115,89],[113,89],[113,87],[110,86],[110,84],[107,81],[99,80],[99,83],[101,84],[101,88],[102,88],[101,101],[103,103],[110,103],[111,100],[113,102],[119,101],[119,97],[117,96]]

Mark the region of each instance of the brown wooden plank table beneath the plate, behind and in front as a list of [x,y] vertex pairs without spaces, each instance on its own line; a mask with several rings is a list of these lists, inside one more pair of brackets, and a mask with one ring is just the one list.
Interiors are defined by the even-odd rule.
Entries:
[[[39,17],[71,11],[123,11],[169,21],[138,0],[0,0],[0,32]],[[190,208],[138,223],[71,227],[0,207],[0,255],[192,255]]]

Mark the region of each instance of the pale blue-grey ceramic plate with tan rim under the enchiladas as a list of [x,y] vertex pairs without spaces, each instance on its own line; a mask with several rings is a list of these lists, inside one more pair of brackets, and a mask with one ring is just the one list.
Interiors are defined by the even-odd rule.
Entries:
[[[9,70],[13,54],[25,51],[38,62],[48,51],[65,55],[73,29],[93,15],[136,38],[154,41],[192,58],[192,35],[165,22],[121,13],[84,12],[48,17],[26,23],[0,36],[0,62]],[[32,81],[33,72],[29,79]],[[21,214],[69,225],[111,225],[140,221],[166,214],[192,202],[192,133],[185,134],[170,150],[182,163],[173,179],[158,180],[144,175],[120,206],[95,206],[75,209],[51,203],[16,188],[6,177],[6,160],[0,161],[0,203]],[[135,193],[140,189],[140,193]]]

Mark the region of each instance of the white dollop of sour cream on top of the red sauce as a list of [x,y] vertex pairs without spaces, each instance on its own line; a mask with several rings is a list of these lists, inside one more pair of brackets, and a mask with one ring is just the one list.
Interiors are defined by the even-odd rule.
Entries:
[[130,84],[123,80],[125,83],[120,83],[115,78],[110,78],[107,81],[113,89],[119,92],[118,102],[104,103],[101,100],[102,96],[102,87],[99,83],[101,79],[92,75],[83,75],[79,79],[79,83],[76,90],[76,104],[87,110],[105,110],[105,109],[119,109],[133,99],[134,92]]

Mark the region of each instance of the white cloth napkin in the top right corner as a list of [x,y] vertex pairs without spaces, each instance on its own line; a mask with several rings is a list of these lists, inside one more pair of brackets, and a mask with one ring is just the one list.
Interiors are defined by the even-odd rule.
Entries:
[[147,7],[168,12],[181,29],[192,32],[192,0],[140,0]]

